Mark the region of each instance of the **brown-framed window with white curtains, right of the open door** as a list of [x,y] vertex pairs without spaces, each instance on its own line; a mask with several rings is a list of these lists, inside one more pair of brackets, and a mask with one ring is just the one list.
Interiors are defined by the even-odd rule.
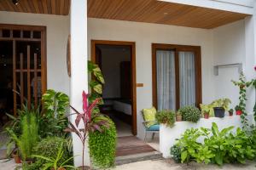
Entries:
[[201,103],[201,48],[152,44],[153,104],[177,111]]

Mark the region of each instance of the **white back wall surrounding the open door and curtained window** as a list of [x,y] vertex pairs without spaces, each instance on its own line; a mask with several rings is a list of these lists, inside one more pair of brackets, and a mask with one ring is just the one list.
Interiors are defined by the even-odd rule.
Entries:
[[88,19],[88,49],[90,41],[112,40],[136,42],[137,83],[137,135],[143,138],[141,111],[152,107],[152,43],[201,46],[202,100],[214,98],[212,31],[182,26],[166,26],[119,20]]

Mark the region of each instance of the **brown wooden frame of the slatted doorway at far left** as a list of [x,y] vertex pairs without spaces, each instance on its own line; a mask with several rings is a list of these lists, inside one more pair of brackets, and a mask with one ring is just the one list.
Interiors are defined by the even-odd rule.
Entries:
[[[13,48],[15,47],[16,41],[31,41],[31,42],[41,42],[41,77],[42,77],[42,94],[47,89],[47,46],[46,46],[46,26],[30,26],[30,25],[14,25],[14,24],[1,24],[0,30],[21,30],[21,31],[40,31],[41,38],[23,38],[23,37],[13,37],[12,33],[10,37],[0,37],[0,41],[12,41]],[[11,31],[12,32],[12,31]],[[15,59],[15,49],[13,49],[13,59]],[[15,73],[13,73],[15,74]],[[16,95],[16,94],[14,94]],[[16,100],[16,99],[15,99]],[[14,101],[14,105],[15,105]],[[15,108],[14,108],[15,109]],[[15,111],[16,114],[17,111]]]

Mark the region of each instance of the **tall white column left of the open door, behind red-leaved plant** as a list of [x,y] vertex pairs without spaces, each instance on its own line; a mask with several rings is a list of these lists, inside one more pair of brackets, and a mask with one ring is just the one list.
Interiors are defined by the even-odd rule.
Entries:
[[[87,1],[72,0],[70,6],[71,36],[71,81],[70,103],[78,111],[82,111],[82,92],[88,91],[87,79]],[[75,116],[71,117],[74,122]],[[88,148],[85,147],[85,165],[90,165]],[[82,165],[82,143],[73,133],[74,165]]]

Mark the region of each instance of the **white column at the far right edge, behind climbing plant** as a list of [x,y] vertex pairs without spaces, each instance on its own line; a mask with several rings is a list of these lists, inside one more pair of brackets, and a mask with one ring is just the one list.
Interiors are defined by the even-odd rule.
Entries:
[[[243,59],[243,71],[247,77],[247,81],[255,78],[256,71],[253,70],[256,61],[256,11],[254,8],[253,16],[245,19],[245,50],[246,56]],[[247,112],[253,113],[253,105],[255,104],[255,89],[247,90]]]

